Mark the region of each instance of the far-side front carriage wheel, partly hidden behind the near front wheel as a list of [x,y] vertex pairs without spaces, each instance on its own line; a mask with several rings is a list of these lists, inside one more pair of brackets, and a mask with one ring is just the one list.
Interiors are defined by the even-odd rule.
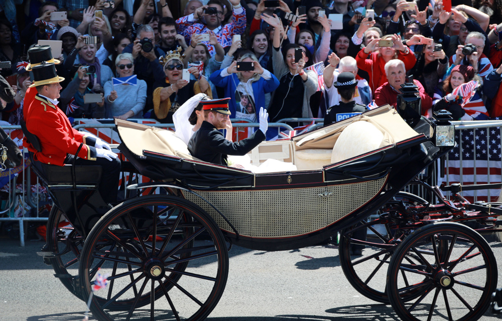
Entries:
[[[399,192],[393,201],[401,201],[406,206],[427,204],[426,200],[406,192]],[[378,214],[385,211],[386,206]],[[366,237],[366,233],[361,233],[364,229],[371,231],[373,236]],[[363,221],[340,232],[340,265],[347,280],[359,293],[374,301],[389,303],[386,283],[382,280],[386,279],[391,255],[404,237],[405,233],[396,230],[387,218],[378,218],[367,224]],[[354,245],[364,246],[362,255],[350,255]],[[409,256],[408,259],[414,261],[416,258]]]

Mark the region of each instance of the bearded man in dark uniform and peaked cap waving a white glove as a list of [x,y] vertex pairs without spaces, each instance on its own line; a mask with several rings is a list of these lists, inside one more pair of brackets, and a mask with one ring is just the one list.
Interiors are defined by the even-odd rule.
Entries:
[[202,100],[204,121],[200,129],[190,138],[188,150],[192,156],[201,161],[227,166],[227,155],[245,155],[265,140],[268,117],[267,109],[260,109],[260,130],[239,142],[226,140],[218,129],[226,128],[228,117],[228,101],[230,98]]

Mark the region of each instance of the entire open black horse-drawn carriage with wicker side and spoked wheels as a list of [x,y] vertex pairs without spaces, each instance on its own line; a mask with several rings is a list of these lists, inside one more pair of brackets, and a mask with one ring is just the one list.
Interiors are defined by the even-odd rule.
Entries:
[[[34,165],[55,203],[41,254],[85,301],[98,270],[108,274],[106,290],[91,297],[98,320],[204,319],[225,288],[232,244],[288,250],[339,231],[349,281],[363,295],[390,302],[402,319],[475,320],[489,306],[495,258],[478,232],[457,222],[476,221],[480,231],[493,232],[502,210],[470,204],[458,186],[446,188],[453,194],[446,200],[416,178],[453,147],[446,118],[411,128],[384,106],[263,142],[249,153],[253,164],[274,158],[297,170],[260,174],[202,162],[171,131],[116,124],[130,183],[134,173],[153,180],[130,184],[121,204],[110,209],[100,198],[99,167]],[[347,143],[355,124],[369,124],[380,141],[343,155],[340,142]],[[424,186],[430,199],[402,192],[409,184]],[[367,221],[375,213],[378,219]],[[356,236],[366,229],[373,237]],[[350,255],[352,245],[364,246],[363,255]],[[373,284],[385,267],[387,284]]]

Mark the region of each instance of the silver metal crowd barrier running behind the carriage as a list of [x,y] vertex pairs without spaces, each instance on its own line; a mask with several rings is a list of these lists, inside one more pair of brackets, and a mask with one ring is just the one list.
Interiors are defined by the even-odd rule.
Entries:
[[[134,120],[134,119],[131,119],[131,120]],[[137,119],[139,120],[139,119]],[[143,119],[145,120],[145,119]],[[276,128],[284,128],[285,130],[293,130],[293,128],[286,124],[285,122],[313,122],[313,125],[311,125],[310,127],[308,127],[309,130],[312,130],[312,129],[315,129],[315,128],[318,128],[320,126],[322,126],[322,118],[284,118],[284,119],[281,119],[279,122],[276,122],[276,123],[269,123],[269,127],[276,127]],[[243,123],[234,123],[234,121],[243,121]],[[474,139],[483,139],[483,137],[479,137],[479,135],[476,135],[476,131],[479,130],[481,131],[482,129],[485,129],[485,136],[486,135],[489,135],[489,133],[486,131],[486,128],[493,128],[493,127],[496,127],[496,130],[498,131],[498,146],[500,146],[500,144],[502,143],[502,121],[496,121],[496,120],[490,120],[490,121],[455,121],[453,122],[455,124],[455,130],[456,132],[459,133],[459,135],[462,134],[462,131],[463,130],[471,130],[471,129],[474,129]],[[153,126],[153,127],[161,127],[161,128],[174,128],[174,124],[155,124],[155,123],[152,123],[152,124],[148,124],[149,126]],[[239,128],[239,127],[259,127],[260,124],[259,123],[251,123],[249,122],[248,119],[232,119],[232,126],[234,128]],[[15,129],[21,129],[21,126],[4,126],[3,127],[7,132],[9,132],[9,130],[15,130]],[[87,129],[90,129],[90,128],[95,128],[95,129],[103,129],[103,128],[109,128],[110,130],[110,136],[111,137],[111,133],[113,131],[113,129],[115,128],[115,125],[113,123],[107,123],[107,124],[78,124],[78,125],[75,125],[74,126],[75,129],[77,130],[81,130],[81,129],[84,129],[84,128],[87,128]],[[103,132],[101,132],[101,134],[105,134]],[[486,136],[488,137],[488,136]],[[460,150],[462,150],[463,146],[462,146],[462,139],[460,139],[460,143],[459,143],[459,148]],[[498,147],[500,149],[500,147]],[[489,150],[487,149],[487,152],[489,152]],[[24,153],[27,154],[28,151],[27,150],[24,150]],[[24,235],[25,235],[25,229],[26,229],[26,224],[28,222],[32,222],[32,221],[47,221],[47,217],[41,217],[40,216],[40,213],[39,213],[39,209],[40,209],[40,206],[41,206],[41,202],[40,202],[40,199],[41,199],[41,188],[39,188],[41,186],[39,180],[38,180],[38,177],[36,178],[36,188],[35,188],[35,193],[32,193],[32,185],[31,185],[31,178],[32,178],[32,174],[31,174],[31,171],[30,171],[30,166],[27,165],[25,163],[25,160],[27,158],[25,157],[24,161],[23,161],[23,167],[22,168],[25,168],[26,166],[26,169],[25,170],[22,170],[20,171],[20,175],[21,175],[21,180],[22,180],[22,184],[21,184],[21,188],[20,189],[17,189],[16,187],[16,182],[18,181],[18,176],[14,176],[12,170],[9,170],[9,171],[5,171],[3,173],[0,173],[0,176],[2,177],[6,177],[6,176],[11,176],[11,179],[9,180],[7,186],[9,186],[8,188],[8,193],[7,192],[4,192],[3,194],[7,194],[7,196],[4,197],[4,195],[2,195],[2,206],[0,207],[0,222],[15,222],[15,221],[18,221],[19,222],[19,236],[20,236],[20,243],[21,243],[21,246],[24,246],[25,245],[25,238],[24,238]],[[462,154],[460,153],[460,159],[459,159],[459,168],[460,168],[460,183],[464,183],[464,180],[462,179],[462,175],[463,175],[463,170],[464,170],[464,164],[462,163],[464,162],[464,159],[462,159]],[[488,158],[488,161],[486,163],[483,163],[483,165],[486,165],[486,168],[487,168],[487,171],[488,171],[488,175],[487,175],[487,182],[486,181],[481,181],[476,173],[476,170],[478,169],[478,165],[477,165],[477,159],[476,159],[476,155],[474,155],[474,158],[473,158],[473,161],[472,161],[472,168],[473,168],[473,182],[468,182],[469,184],[470,183],[473,183],[473,184],[476,184],[478,182],[480,183],[490,183],[490,169],[491,168],[500,168],[501,167],[501,162],[500,161],[490,161],[489,158]],[[478,161],[479,162],[479,161]],[[448,164],[448,162],[447,162]],[[448,173],[448,167],[449,165],[447,165],[447,172]],[[492,169],[491,169],[492,170]],[[433,178],[437,178],[438,175],[437,175],[437,171],[436,171],[436,168],[433,169],[433,174],[432,174],[432,177]],[[428,176],[429,173],[423,173],[422,174],[424,177]],[[126,180],[124,180],[126,181]],[[491,183],[498,183],[500,181],[500,176],[498,176],[498,181],[497,182],[491,182]],[[27,186],[26,182],[30,182],[30,186]],[[446,184],[450,184],[450,177],[447,175],[445,177],[445,179],[443,180],[443,182],[445,182]],[[439,182],[440,183],[440,182]],[[437,184],[437,182],[432,182],[432,184]],[[425,190],[421,187],[418,187],[418,186],[411,186],[408,188],[407,190],[408,192],[411,192],[411,193],[414,193],[418,196],[421,196],[423,198],[426,198],[427,195],[424,195],[425,193]],[[477,196],[478,196],[478,192],[474,192],[474,200],[477,200]],[[498,195],[498,194],[497,194]],[[488,197],[490,197],[490,191],[488,190]],[[21,201],[21,202],[20,202]],[[32,208],[32,211],[30,213],[27,213],[25,208],[26,206],[21,206],[20,203],[23,203],[24,204],[27,204],[29,205],[31,208]],[[17,209],[17,211],[16,211]],[[16,213],[20,213],[19,217],[17,217]]]

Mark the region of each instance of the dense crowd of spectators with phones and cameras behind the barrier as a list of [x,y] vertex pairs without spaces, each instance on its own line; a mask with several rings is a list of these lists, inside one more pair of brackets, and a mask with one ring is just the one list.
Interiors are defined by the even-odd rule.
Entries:
[[[41,40],[61,41],[61,52],[53,52],[65,78],[59,107],[74,118],[172,123],[174,112],[198,93],[231,98],[230,118],[257,122],[260,107],[270,121],[325,118],[340,104],[340,112],[351,114],[361,106],[395,106],[407,82],[418,87],[425,116],[439,108],[461,120],[502,115],[502,0],[452,0],[448,11],[441,0],[270,3],[2,2],[0,61],[12,68],[0,74],[16,92],[2,120],[19,124],[32,83],[26,53]],[[66,19],[51,20],[54,12]],[[342,18],[337,29],[330,14]],[[253,67],[237,70],[239,63]],[[340,89],[341,73],[355,76],[355,92]],[[133,75],[136,85],[112,81]],[[469,101],[451,95],[471,80],[480,86]],[[90,93],[101,101],[86,102]]]

